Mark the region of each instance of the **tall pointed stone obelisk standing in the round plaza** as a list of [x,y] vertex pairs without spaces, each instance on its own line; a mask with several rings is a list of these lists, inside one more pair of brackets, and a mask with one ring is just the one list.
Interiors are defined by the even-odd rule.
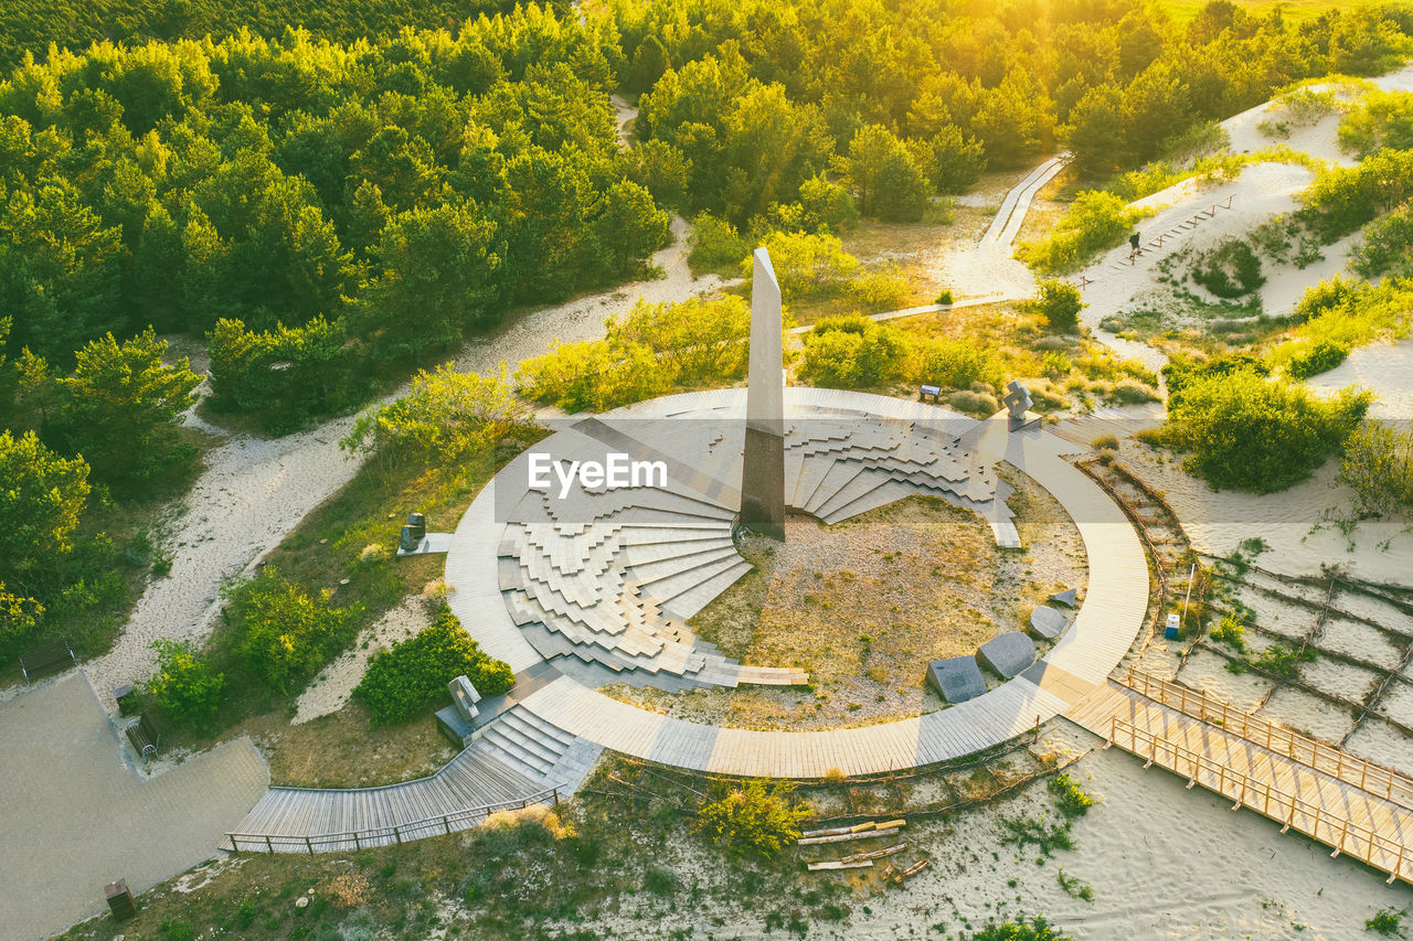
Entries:
[[756,249],[750,280],[750,360],[746,373],[746,455],[740,469],[740,523],[786,538],[786,372],[780,283],[770,254]]

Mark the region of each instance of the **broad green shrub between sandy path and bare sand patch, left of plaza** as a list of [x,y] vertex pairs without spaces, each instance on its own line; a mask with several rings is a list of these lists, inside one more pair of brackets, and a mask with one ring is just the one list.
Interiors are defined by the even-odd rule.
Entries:
[[237,619],[235,650],[271,692],[288,694],[357,637],[363,606],[333,608],[332,592],[309,595],[274,565],[226,592]]

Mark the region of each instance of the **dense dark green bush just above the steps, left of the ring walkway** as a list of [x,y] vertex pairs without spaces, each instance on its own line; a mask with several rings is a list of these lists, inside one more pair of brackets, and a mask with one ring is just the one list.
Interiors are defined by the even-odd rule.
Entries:
[[449,608],[422,633],[374,654],[353,698],[379,725],[407,722],[447,697],[447,684],[465,674],[476,692],[497,697],[514,685],[510,667],[482,653]]

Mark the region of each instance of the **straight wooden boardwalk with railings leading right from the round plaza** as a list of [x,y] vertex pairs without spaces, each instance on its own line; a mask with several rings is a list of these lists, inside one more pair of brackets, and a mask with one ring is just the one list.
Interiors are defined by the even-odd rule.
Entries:
[[1065,718],[1145,759],[1145,767],[1157,764],[1186,777],[1188,787],[1231,798],[1232,810],[1246,807],[1279,822],[1282,832],[1294,829],[1334,848],[1334,856],[1361,859],[1389,873],[1390,883],[1413,883],[1413,810],[1400,803],[1413,783],[1332,746],[1311,747],[1313,739],[1201,692],[1184,695],[1178,684],[1137,673],[1125,675],[1130,678],[1139,688],[1109,681]]

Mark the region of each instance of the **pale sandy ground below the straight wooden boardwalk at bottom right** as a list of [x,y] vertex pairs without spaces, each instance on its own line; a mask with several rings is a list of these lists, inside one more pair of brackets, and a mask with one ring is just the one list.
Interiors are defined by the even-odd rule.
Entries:
[[[1330,859],[1327,848],[1231,801],[1060,722],[1044,747],[1057,753],[1089,752],[1070,769],[1085,791],[1101,798],[1072,824],[1074,849],[1041,859],[1034,846],[1006,842],[1003,819],[1057,819],[1043,784],[944,821],[914,821],[904,836],[933,855],[933,865],[906,887],[879,887],[868,870],[815,873],[818,884],[849,889],[846,921],[814,921],[811,938],[962,937],[992,920],[1044,913],[1077,940],[1091,938],[1358,938],[1364,920],[1385,907],[1413,901],[1406,886],[1385,886],[1383,876],[1348,858]],[[880,842],[861,846],[872,848]],[[907,852],[913,852],[911,849]],[[694,872],[706,900],[673,906],[649,893],[626,899],[617,913],[574,925],[598,937],[777,938],[764,916],[769,899],[753,910],[714,899],[729,880],[714,856],[695,841],[673,841],[661,851],[678,872]],[[821,855],[822,858],[822,855]],[[911,856],[909,856],[911,858]],[[1058,880],[1089,884],[1094,899],[1071,896]],[[1078,892],[1078,886],[1075,886]],[[728,890],[729,892],[729,890]],[[739,897],[739,893],[732,893]],[[692,897],[699,897],[694,890]],[[800,906],[804,907],[804,906]],[[712,925],[712,927],[708,927]]]

